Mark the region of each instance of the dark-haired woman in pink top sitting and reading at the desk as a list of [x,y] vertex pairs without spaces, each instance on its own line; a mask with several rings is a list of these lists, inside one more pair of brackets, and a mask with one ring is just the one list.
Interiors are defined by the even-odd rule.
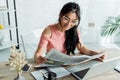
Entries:
[[[46,62],[43,50],[47,52],[55,48],[66,55],[74,54],[77,48],[80,53],[95,55],[98,52],[87,49],[81,42],[80,32],[77,27],[80,23],[80,7],[75,2],[66,3],[60,11],[58,23],[49,25],[44,29],[35,52],[34,60],[38,64]],[[103,60],[105,56],[100,59]]]

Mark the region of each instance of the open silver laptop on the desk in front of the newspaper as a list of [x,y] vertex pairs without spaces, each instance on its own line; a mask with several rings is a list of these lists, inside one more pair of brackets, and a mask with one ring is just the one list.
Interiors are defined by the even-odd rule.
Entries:
[[120,62],[120,57],[113,58],[110,60],[100,61],[89,61],[78,66],[67,68],[78,80],[86,80],[88,78],[109,72]]

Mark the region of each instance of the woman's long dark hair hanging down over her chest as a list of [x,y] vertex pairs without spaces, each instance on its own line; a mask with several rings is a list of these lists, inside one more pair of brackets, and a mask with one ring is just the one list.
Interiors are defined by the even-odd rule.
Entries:
[[78,24],[73,26],[71,29],[69,29],[65,32],[66,39],[65,39],[64,45],[65,45],[68,55],[70,55],[70,53],[74,54],[76,45],[77,45],[77,43],[79,43],[78,32],[77,32],[77,27],[80,23],[80,18],[81,18],[79,5],[75,2],[66,3],[60,11],[59,22],[60,22],[61,17],[69,12],[76,13],[76,15],[78,17]]

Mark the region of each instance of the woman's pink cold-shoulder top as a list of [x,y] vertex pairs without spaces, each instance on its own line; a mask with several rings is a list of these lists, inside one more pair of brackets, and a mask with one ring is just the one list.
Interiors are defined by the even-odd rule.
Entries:
[[65,42],[65,33],[60,32],[56,29],[56,24],[48,26],[51,29],[51,37],[47,38],[44,35],[41,35],[39,45],[43,48],[47,48],[47,52],[50,49],[55,48],[62,53],[67,53],[64,42]]

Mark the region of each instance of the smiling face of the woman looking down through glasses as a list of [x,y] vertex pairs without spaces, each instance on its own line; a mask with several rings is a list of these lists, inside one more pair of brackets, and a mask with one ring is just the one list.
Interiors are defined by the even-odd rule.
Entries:
[[70,12],[61,17],[61,27],[63,30],[69,30],[78,24],[78,17],[76,13]]

